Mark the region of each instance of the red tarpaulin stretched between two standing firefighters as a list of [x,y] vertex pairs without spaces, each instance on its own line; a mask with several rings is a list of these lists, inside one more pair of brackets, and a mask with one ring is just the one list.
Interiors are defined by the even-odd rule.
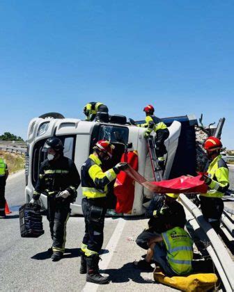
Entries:
[[207,193],[208,191],[208,187],[201,175],[197,177],[182,175],[182,177],[166,181],[146,181],[131,166],[125,172],[132,179],[154,193]]

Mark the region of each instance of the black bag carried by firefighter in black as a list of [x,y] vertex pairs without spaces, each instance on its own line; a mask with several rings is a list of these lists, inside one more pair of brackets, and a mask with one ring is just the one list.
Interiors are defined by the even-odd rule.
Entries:
[[39,237],[44,234],[40,206],[24,204],[20,207],[19,212],[22,237]]

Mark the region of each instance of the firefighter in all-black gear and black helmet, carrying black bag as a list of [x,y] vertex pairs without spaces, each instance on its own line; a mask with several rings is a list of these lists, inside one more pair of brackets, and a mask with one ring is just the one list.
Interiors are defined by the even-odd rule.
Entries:
[[59,138],[47,139],[42,151],[47,152],[47,159],[40,166],[30,204],[40,204],[40,193],[47,195],[47,219],[53,241],[48,252],[53,261],[59,261],[65,251],[70,203],[75,201],[80,177],[75,163],[63,156],[63,143]]

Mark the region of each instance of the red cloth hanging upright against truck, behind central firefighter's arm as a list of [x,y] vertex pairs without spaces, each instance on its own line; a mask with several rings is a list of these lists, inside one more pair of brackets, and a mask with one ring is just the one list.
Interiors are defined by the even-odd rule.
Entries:
[[[127,162],[131,165],[132,170],[138,170],[137,152],[130,151],[124,153],[121,157],[121,162]],[[127,175],[125,171],[120,171],[116,177],[114,184],[114,195],[117,197],[116,212],[131,213],[134,202],[135,181]]]

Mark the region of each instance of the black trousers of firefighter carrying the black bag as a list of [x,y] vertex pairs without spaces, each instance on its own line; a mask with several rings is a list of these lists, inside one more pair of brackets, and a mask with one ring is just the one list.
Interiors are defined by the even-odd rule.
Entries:
[[66,241],[66,225],[70,216],[68,199],[48,197],[47,219],[53,240],[53,251],[64,252]]

